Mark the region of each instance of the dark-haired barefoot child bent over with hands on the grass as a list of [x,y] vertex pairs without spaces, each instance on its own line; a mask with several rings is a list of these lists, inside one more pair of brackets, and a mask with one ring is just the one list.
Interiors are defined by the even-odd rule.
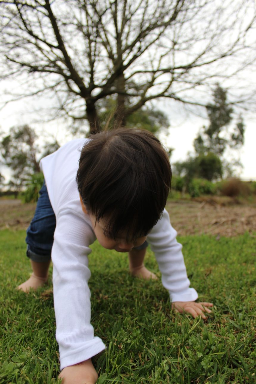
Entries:
[[27,230],[33,273],[23,291],[46,283],[53,262],[59,377],[64,384],[94,384],[91,357],[105,349],[91,320],[89,245],[128,252],[130,273],[155,279],[143,260],[147,245],[162,273],[172,306],[203,319],[211,303],[197,303],[189,288],[182,246],[164,209],[170,162],[159,140],[142,129],[119,128],[75,139],[41,160],[45,183]]

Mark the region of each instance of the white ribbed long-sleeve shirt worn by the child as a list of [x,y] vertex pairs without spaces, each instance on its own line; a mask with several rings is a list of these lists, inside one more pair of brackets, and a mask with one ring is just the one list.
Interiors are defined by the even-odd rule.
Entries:
[[[56,216],[51,258],[56,340],[61,369],[87,360],[105,345],[94,336],[88,280],[89,245],[96,240],[88,215],[84,214],[76,184],[80,151],[88,139],[75,139],[41,160],[41,169]],[[162,284],[171,301],[194,301],[197,292],[190,281],[166,210],[147,236],[162,273]]]

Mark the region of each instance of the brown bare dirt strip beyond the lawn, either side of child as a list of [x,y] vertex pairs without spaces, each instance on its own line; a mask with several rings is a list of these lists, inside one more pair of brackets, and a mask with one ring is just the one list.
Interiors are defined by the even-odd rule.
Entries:
[[[35,204],[0,199],[0,229],[26,229],[34,210]],[[168,200],[167,210],[178,235],[231,237],[246,231],[256,235],[256,204],[238,204],[228,198]]]

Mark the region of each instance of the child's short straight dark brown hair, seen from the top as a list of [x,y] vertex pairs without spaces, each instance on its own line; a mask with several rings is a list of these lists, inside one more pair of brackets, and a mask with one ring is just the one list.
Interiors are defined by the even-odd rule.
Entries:
[[86,210],[104,220],[104,233],[132,241],[159,220],[171,177],[167,153],[152,133],[119,128],[91,136],[76,180]]

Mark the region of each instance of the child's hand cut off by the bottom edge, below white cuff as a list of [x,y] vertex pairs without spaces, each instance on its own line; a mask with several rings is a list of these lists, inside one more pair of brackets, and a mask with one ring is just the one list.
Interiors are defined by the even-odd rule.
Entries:
[[61,384],[95,384],[98,375],[91,359],[66,367],[59,374]]

